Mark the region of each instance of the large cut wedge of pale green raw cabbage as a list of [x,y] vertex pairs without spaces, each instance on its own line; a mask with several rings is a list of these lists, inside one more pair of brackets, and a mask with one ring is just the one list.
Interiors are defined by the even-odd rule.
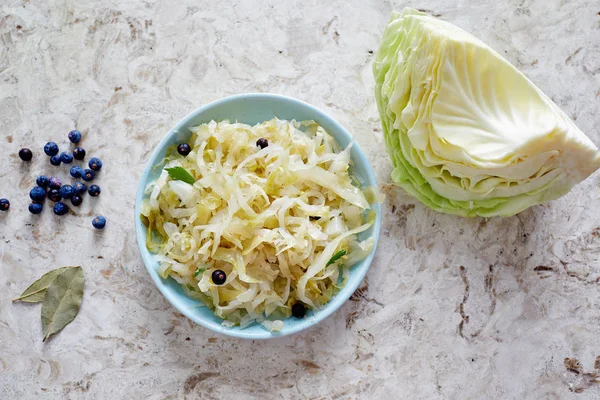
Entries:
[[373,73],[392,180],[434,210],[510,216],[600,167],[598,148],[548,96],[450,23],[393,13]]

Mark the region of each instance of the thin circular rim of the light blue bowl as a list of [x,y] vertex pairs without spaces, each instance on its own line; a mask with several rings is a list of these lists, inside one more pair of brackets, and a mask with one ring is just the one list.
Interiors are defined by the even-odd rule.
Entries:
[[[167,301],[171,304],[172,307],[174,307],[177,311],[179,311],[180,313],[185,315],[187,318],[189,318],[196,324],[198,324],[204,328],[207,328],[217,334],[240,338],[240,339],[263,340],[263,339],[274,339],[274,338],[292,335],[292,334],[301,332],[305,329],[308,329],[310,327],[313,327],[314,325],[318,324],[319,322],[321,322],[324,319],[326,319],[327,317],[329,317],[331,314],[333,314],[335,311],[337,311],[344,303],[346,303],[346,301],[350,298],[352,293],[354,293],[354,291],[360,286],[367,271],[371,267],[371,263],[377,252],[377,245],[379,243],[379,236],[380,236],[381,224],[382,224],[382,215],[381,215],[380,203],[371,204],[372,208],[376,210],[376,218],[375,218],[375,222],[373,224],[373,233],[372,233],[372,237],[374,238],[375,242],[373,244],[373,249],[367,255],[367,257],[365,257],[363,260],[359,261],[362,263],[361,268],[356,271],[350,271],[350,274],[351,274],[350,276],[352,277],[352,279],[349,279],[348,282],[346,283],[346,286],[344,286],[342,288],[342,290],[340,290],[339,293],[337,293],[334,297],[332,297],[331,300],[326,305],[324,305],[321,309],[319,309],[317,314],[312,316],[310,319],[305,318],[304,320],[298,321],[298,323],[294,324],[289,329],[285,329],[281,332],[269,332],[268,330],[264,329],[264,333],[261,332],[261,334],[251,334],[249,332],[245,332],[244,330],[234,331],[234,330],[231,330],[229,327],[225,327],[222,325],[214,325],[212,323],[209,323],[209,322],[205,321],[204,318],[197,316],[196,314],[192,313],[187,307],[184,307],[182,304],[180,304],[180,302],[177,299],[178,296],[173,295],[172,293],[170,293],[167,290],[167,288],[164,286],[164,283],[162,282],[162,278],[160,278],[158,275],[155,276],[155,274],[152,273],[152,271],[150,270],[152,268],[152,266],[146,260],[147,257],[152,256],[152,253],[150,253],[150,251],[146,248],[146,236],[145,236],[145,233],[142,231],[141,222],[139,221],[139,215],[141,213],[142,200],[146,197],[145,191],[146,191],[146,186],[148,184],[147,182],[148,182],[149,176],[151,174],[152,169],[156,165],[156,161],[157,161],[159,154],[162,152],[162,150],[166,146],[169,145],[169,141],[171,140],[172,136],[179,134],[181,132],[182,128],[187,128],[188,126],[190,126],[189,121],[191,119],[197,117],[200,114],[203,114],[203,113],[209,111],[210,109],[212,109],[214,107],[218,107],[224,103],[235,102],[235,101],[239,101],[239,100],[248,100],[248,99],[253,99],[253,98],[275,99],[278,101],[290,103],[293,106],[300,106],[300,107],[306,108],[306,109],[310,110],[311,113],[314,113],[316,116],[318,116],[320,119],[326,120],[330,125],[333,125],[335,127],[335,129],[338,130],[342,135],[347,136],[347,138],[349,138],[350,140],[353,139],[352,134],[350,134],[350,132],[342,124],[340,124],[337,120],[335,120],[329,114],[325,113],[324,111],[320,110],[319,108],[317,108],[309,103],[306,103],[302,100],[298,100],[293,97],[280,95],[280,94],[271,94],[271,93],[243,93],[243,94],[236,94],[236,95],[232,95],[232,96],[223,97],[221,99],[207,103],[207,104],[195,109],[188,115],[186,115],[173,128],[171,128],[165,134],[165,136],[160,140],[160,142],[156,145],[156,147],[154,148],[154,151],[152,152],[150,158],[148,159],[148,161],[146,163],[146,166],[144,167],[142,175],[139,178],[140,180],[139,180],[139,184],[138,184],[138,188],[137,188],[137,192],[136,192],[136,201],[135,201],[133,217],[134,217],[134,225],[135,225],[135,231],[136,231],[136,240],[138,243],[138,248],[140,250],[142,262],[144,263],[144,266],[146,267],[146,271],[152,278],[154,285],[158,288],[158,290],[167,299]],[[317,122],[319,122],[319,121],[317,121]],[[334,136],[334,138],[336,139],[336,141],[339,140],[335,136]],[[355,162],[364,165],[364,169],[366,172],[364,174],[365,175],[364,177],[366,178],[366,180],[372,182],[375,186],[377,186],[377,180],[375,178],[375,173],[373,171],[373,167],[369,163],[369,160],[367,159],[365,153],[362,151],[362,149],[360,148],[359,144],[356,141],[353,144],[353,152],[354,151],[356,151],[356,156],[353,156],[352,159]]]

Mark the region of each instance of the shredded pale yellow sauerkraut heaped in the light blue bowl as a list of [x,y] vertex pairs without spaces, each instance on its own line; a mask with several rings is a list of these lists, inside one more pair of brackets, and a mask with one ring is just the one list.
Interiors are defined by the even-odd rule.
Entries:
[[[357,237],[373,215],[348,173],[352,143],[340,149],[312,121],[212,121],[191,131],[192,151],[170,149],[142,205],[160,275],[227,325],[277,331],[295,303],[326,304],[374,244]],[[221,285],[216,270],[226,274]]]

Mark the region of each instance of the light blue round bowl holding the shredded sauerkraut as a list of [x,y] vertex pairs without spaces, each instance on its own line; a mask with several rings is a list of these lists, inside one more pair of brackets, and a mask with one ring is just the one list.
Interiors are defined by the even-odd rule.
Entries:
[[[191,136],[188,127],[207,123],[211,120],[220,121],[225,119],[254,125],[273,117],[287,120],[295,119],[297,121],[314,120],[325,128],[342,147],[348,145],[352,140],[350,133],[333,118],[300,100],[274,94],[243,94],[226,97],[192,112],[175,125],[159,143],[140,180],[135,204],[135,228],[142,259],[162,294],[176,309],[192,321],[217,333],[245,339],[269,339],[290,335],[309,328],[331,315],[348,300],[364,278],[373,260],[375,248],[368,257],[352,266],[348,283],[327,305],[317,311],[307,313],[303,319],[293,317],[287,319],[285,327],[280,332],[271,333],[259,324],[254,324],[245,329],[239,327],[228,328],[221,325],[222,320],[214,315],[209,308],[204,307],[198,300],[187,297],[175,280],[171,278],[162,279],[158,275],[158,263],[145,245],[146,227],[139,218],[140,206],[145,197],[144,190],[146,186],[155,180],[161,172],[160,168],[154,167],[164,158],[167,147],[175,143],[187,142]],[[352,147],[352,159],[354,161],[353,174],[359,178],[365,187],[376,186],[373,170],[358,144]],[[377,220],[369,230],[362,232],[359,238],[365,239],[374,236],[377,244],[381,227],[381,208],[379,204],[373,204],[373,208],[377,211]]]

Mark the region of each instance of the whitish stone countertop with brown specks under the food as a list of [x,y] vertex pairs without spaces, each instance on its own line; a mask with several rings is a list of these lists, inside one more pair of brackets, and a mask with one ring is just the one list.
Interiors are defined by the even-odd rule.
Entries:
[[[599,399],[600,175],[512,218],[438,214],[386,187],[367,280],[315,328],[216,337],[152,284],[133,233],[137,181],[179,119],[218,98],[320,107],[389,182],[371,60],[392,9],[428,10],[513,62],[600,144],[597,0],[3,0],[1,399]],[[84,133],[102,195],[26,211],[48,140]],[[20,147],[35,150],[22,165]],[[62,176],[67,171],[61,168]],[[104,232],[91,218],[108,217]],[[75,321],[42,343],[31,281],[82,265]],[[568,359],[568,360],[565,360]],[[578,361],[577,361],[578,360]]]

